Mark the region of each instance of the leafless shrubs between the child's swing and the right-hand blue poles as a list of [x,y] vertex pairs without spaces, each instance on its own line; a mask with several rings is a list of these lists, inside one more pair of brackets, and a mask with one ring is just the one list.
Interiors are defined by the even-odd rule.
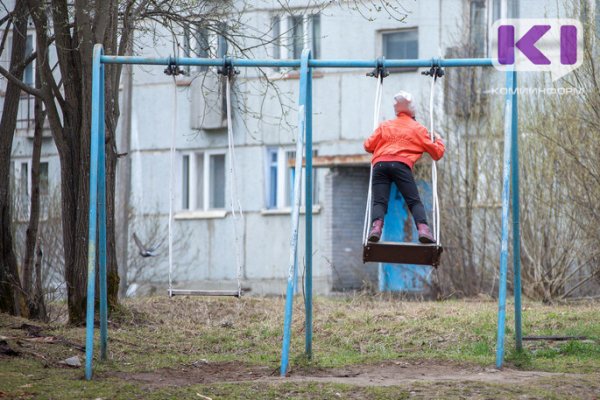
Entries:
[[[447,56],[474,56],[464,41]],[[437,297],[474,296],[495,285],[502,110],[488,94],[488,72],[451,69],[443,78],[444,118],[438,120],[447,149],[438,167],[444,254],[432,281]]]

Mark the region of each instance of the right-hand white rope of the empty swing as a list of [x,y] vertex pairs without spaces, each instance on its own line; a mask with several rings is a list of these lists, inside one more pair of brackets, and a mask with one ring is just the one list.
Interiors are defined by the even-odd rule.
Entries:
[[[242,295],[242,261],[240,254],[240,244],[237,234],[237,219],[241,219],[242,231],[244,226],[244,212],[242,210],[242,204],[240,202],[237,193],[237,174],[235,166],[237,164],[235,158],[235,145],[233,141],[233,122],[231,118],[231,77],[232,74],[228,74],[226,77],[225,85],[225,102],[227,104],[227,147],[229,150],[229,195],[230,195],[230,206],[231,216],[233,221],[233,236],[235,246],[235,263],[237,267],[237,289],[238,297]],[[237,209],[237,210],[236,210]]]

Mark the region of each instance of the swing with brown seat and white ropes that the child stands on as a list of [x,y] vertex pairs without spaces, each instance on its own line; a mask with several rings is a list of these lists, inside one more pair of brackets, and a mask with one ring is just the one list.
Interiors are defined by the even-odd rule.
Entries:
[[[431,92],[429,96],[429,134],[434,139],[433,128],[433,100],[435,94],[435,83],[438,77],[443,76],[443,71],[439,67],[432,67],[425,75],[431,75]],[[377,89],[375,91],[375,108],[373,113],[373,129],[379,125],[379,115],[381,109],[381,98],[383,92],[383,78],[385,71],[378,68],[374,75],[377,78]],[[433,206],[433,236],[435,243],[413,243],[413,242],[370,242],[369,228],[371,224],[372,207],[372,185],[373,185],[373,164],[369,173],[369,191],[367,194],[367,206],[365,210],[365,222],[363,232],[363,263],[384,262],[395,264],[418,264],[431,265],[437,267],[440,262],[443,247],[440,244],[440,210],[437,194],[437,167],[436,162],[432,161],[431,166],[431,186],[432,186],[432,206]]]

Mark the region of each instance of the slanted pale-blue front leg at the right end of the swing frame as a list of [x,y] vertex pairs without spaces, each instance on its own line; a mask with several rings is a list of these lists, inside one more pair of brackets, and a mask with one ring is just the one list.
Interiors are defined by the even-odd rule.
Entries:
[[508,269],[508,214],[510,198],[510,165],[512,156],[512,120],[514,72],[506,73],[506,100],[504,103],[504,166],[502,168],[502,238],[500,246],[500,280],[498,288],[498,336],[496,368],[504,361],[504,331],[506,324],[506,275]]

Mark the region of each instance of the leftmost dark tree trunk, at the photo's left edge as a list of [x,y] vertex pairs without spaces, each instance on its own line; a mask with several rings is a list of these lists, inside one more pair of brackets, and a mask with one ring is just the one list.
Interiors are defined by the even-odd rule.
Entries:
[[[27,6],[17,1],[13,27],[10,70],[25,58],[27,40]],[[13,71],[22,80],[23,68]],[[0,311],[13,315],[27,315],[25,297],[21,289],[17,258],[11,232],[10,156],[17,124],[21,89],[8,81],[2,119],[0,120]]]

